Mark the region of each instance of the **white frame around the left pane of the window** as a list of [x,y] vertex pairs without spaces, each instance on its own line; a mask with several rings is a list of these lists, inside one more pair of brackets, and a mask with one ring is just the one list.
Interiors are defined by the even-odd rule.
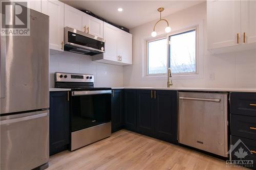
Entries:
[[[148,43],[149,42],[153,42],[153,41],[157,41],[157,40],[161,40],[161,39],[165,39],[166,38],[166,47],[167,47],[167,58],[166,58],[166,72],[165,73],[157,73],[157,74],[148,74]],[[168,70],[168,36],[159,36],[157,38],[151,39],[146,41],[146,76],[164,76],[167,74],[167,70]]]

